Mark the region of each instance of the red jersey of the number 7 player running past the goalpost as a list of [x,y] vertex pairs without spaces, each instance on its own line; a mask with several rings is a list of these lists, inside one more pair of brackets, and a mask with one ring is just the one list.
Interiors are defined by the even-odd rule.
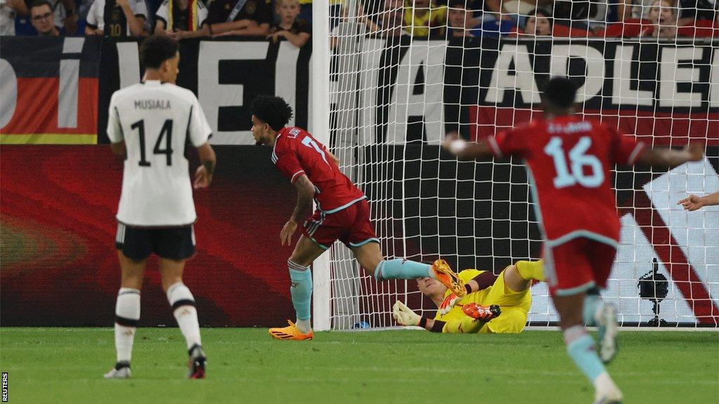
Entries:
[[342,174],[326,151],[324,144],[306,130],[286,127],[278,132],[272,161],[292,183],[306,174],[315,185],[317,208],[331,214],[366,196]]

